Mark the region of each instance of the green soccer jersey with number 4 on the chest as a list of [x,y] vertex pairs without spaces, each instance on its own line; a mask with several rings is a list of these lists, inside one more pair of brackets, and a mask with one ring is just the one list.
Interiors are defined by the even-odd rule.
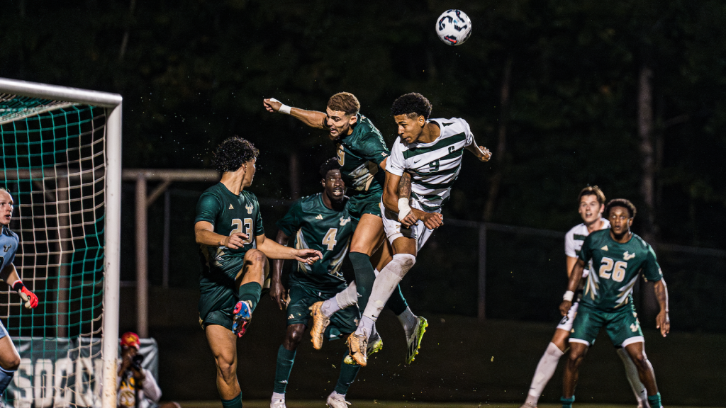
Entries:
[[288,237],[295,235],[295,248],[317,249],[322,253],[322,259],[312,265],[296,262],[290,283],[324,289],[345,282],[340,267],[348,253],[354,227],[348,214],[348,203],[343,211],[335,211],[323,204],[322,194],[295,201],[287,214],[277,221],[277,227]]

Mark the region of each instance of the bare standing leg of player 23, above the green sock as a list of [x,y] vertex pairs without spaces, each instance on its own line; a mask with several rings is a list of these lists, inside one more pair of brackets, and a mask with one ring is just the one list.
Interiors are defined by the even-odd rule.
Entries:
[[223,401],[236,399],[242,393],[237,381],[237,336],[220,325],[208,325],[204,331],[217,367],[219,396]]

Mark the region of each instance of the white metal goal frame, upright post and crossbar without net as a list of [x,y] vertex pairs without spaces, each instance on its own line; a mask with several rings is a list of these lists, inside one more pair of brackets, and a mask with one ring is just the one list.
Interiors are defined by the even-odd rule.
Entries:
[[103,288],[103,408],[116,407],[118,355],[118,301],[121,261],[121,105],[119,94],[0,78],[0,94],[53,99],[107,108],[106,216]]

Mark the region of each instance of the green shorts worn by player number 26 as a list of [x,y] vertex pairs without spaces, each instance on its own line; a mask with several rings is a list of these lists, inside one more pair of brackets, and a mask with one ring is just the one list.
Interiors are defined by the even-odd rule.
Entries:
[[632,303],[623,306],[619,311],[601,311],[580,302],[577,316],[572,323],[570,341],[592,346],[600,328],[605,326],[613,346],[625,347],[632,343],[645,342],[643,330]]

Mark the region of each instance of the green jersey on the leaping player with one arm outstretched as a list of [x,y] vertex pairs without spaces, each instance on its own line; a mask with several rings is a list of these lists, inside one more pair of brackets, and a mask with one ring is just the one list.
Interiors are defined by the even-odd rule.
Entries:
[[391,151],[370,119],[361,114],[357,116],[353,133],[335,141],[340,174],[351,197],[380,195],[386,174],[379,165]]

